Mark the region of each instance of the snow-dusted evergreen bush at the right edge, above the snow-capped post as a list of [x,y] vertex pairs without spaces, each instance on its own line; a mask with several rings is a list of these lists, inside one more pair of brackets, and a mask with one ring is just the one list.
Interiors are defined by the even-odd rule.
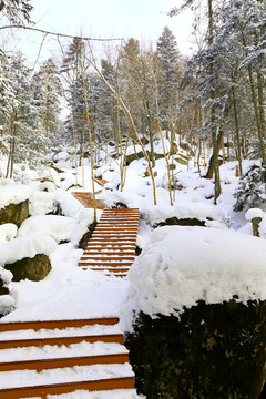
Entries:
[[266,171],[260,165],[252,165],[241,177],[234,193],[234,211],[260,207],[266,204]]

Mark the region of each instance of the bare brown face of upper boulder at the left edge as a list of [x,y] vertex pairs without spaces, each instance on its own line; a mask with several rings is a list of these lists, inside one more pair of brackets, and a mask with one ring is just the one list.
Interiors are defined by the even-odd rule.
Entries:
[[13,223],[18,227],[29,217],[29,200],[19,204],[9,204],[0,209],[0,225]]

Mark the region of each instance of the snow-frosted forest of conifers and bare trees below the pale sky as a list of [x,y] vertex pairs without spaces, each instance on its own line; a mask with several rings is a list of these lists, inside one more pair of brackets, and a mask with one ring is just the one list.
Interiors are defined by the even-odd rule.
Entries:
[[[65,44],[59,38],[61,60],[49,58],[33,70],[23,51],[2,50],[1,152],[9,160],[2,174],[12,177],[18,161],[43,162],[59,143],[72,145],[81,164],[89,131],[95,158],[110,141],[119,153],[129,140],[136,141],[132,122],[151,144],[152,165],[153,137],[160,130],[167,132],[173,150],[176,134],[190,143],[200,172],[215,177],[215,201],[219,162],[237,160],[242,175],[243,160],[260,158],[263,171],[265,1],[185,1],[183,8],[192,3],[197,51],[190,59],[180,53],[167,27],[156,49],[130,38],[110,45],[98,60],[90,41],[76,37]],[[2,4],[11,25],[30,24],[29,2]],[[182,8],[170,10],[172,18]]]

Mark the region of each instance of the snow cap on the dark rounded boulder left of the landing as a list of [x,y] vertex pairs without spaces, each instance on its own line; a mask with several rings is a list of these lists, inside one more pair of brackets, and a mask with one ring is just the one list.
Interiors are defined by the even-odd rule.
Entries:
[[0,245],[0,265],[11,264],[37,254],[50,255],[57,248],[53,238],[41,234],[29,234]]

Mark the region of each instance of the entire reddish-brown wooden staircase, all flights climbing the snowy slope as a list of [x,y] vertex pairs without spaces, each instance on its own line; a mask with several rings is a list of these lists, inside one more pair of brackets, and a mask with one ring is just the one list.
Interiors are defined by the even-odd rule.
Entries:
[[[73,193],[92,207],[91,193]],[[79,262],[108,275],[124,277],[135,258],[139,209],[104,209]],[[104,295],[104,293],[103,293]],[[73,299],[74,300],[74,299]],[[89,304],[90,306],[90,304]],[[0,320],[0,399],[62,399],[78,390],[115,390],[117,398],[135,398],[117,318],[4,323]]]

